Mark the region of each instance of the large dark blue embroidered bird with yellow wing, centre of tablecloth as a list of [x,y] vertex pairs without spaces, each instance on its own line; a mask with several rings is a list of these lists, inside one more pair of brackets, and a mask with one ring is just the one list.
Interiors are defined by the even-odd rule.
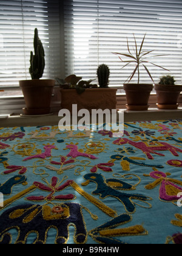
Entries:
[[[118,199],[125,207],[126,211],[129,213],[135,212],[135,204],[132,199],[137,199],[139,201],[152,200],[151,197],[143,196],[143,194],[129,194],[121,192],[121,190],[133,190],[133,186],[129,183],[123,182],[118,179],[108,179],[106,180],[101,174],[86,174],[84,179],[87,180],[82,185],[86,186],[90,182],[95,182],[97,188],[92,194],[99,194],[101,199],[105,199],[108,196],[115,197]],[[114,185],[115,183],[115,185]],[[118,191],[120,189],[120,191]],[[151,207],[151,206],[150,206]]]

